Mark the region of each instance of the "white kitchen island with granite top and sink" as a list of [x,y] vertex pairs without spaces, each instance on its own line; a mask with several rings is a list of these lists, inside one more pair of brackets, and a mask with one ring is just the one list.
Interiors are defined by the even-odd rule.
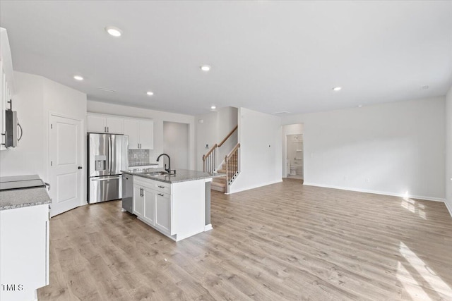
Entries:
[[140,221],[175,241],[212,228],[210,183],[217,175],[186,169],[168,174],[163,168],[122,172],[127,178],[133,176],[133,191],[123,191],[123,202],[129,193],[133,197],[131,213]]

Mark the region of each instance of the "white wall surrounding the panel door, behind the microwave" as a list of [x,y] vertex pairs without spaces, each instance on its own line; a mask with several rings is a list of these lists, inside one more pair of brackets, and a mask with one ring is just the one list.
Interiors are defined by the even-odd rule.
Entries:
[[[37,174],[49,182],[49,115],[75,118],[85,122],[86,94],[39,75],[14,72],[15,94],[13,110],[18,111],[23,139],[18,147],[0,152],[1,176]],[[81,135],[85,135],[82,129]],[[86,149],[82,139],[81,152]],[[83,152],[84,154],[84,152]],[[83,155],[82,164],[85,166]],[[86,168],[83,170],[85,178]],[[85,203],[86,183],[82,181],[82,204]]]

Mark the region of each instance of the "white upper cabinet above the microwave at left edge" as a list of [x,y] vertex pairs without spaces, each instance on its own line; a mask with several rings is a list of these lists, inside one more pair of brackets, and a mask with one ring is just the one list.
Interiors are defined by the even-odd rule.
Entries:
[[5,110],[7,102],[13,94],[13,61],[9,48],[6,29],[0,27],[0,150],[6,149],[5,143]]

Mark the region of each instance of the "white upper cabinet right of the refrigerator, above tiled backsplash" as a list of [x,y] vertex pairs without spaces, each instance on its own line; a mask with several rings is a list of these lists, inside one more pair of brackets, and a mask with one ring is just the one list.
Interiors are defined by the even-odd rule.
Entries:
[[147,119],[124,118],[124,134],[129,135],[129,149],[154,148],[154,122]]

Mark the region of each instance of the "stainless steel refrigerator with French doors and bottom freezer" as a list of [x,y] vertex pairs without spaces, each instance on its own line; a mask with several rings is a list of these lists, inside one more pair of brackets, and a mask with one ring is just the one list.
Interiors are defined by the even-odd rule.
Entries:
[[88,133],[88,203],[121,199],[129,136]]

